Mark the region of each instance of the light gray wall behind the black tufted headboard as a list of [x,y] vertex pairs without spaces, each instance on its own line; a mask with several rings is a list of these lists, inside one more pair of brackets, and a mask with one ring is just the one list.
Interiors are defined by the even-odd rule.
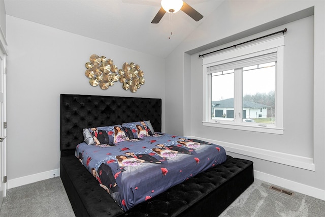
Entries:
[[[8,15],[7,39],[9,183],[59,168],[60,94],[152,97],[164,105],[163,58]],[[119,69],[124,62],[139,64],[145,84],[135,94],[120,82],[107,90],[92,87],[84,74],[91,54],[113,59]],[[164,118],[163,107],[163,130]]]

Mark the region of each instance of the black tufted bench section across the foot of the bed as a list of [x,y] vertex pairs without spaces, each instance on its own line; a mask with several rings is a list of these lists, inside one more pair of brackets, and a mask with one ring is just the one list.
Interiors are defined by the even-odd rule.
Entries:
[[253,162],[227,156],[120,216],[218,216],[254,181]]

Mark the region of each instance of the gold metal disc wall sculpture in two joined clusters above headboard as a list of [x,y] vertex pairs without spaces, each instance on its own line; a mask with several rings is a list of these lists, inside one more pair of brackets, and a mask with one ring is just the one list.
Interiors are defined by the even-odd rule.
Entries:
[[136,92],[145,82],[143,71],[134,63],[124,63],[122,69],[118,69],[112,59],[93,54],[85,66],[87,68],[85,75],[89,78],[90,85],[99,85],[101,89],[108,89],[119,80],[123,84],[123,89]]

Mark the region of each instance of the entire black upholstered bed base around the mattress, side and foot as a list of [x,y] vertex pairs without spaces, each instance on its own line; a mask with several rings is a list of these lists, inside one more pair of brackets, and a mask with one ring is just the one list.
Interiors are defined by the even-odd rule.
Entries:
[[76,216],[217,216],[254,181],[253,162],[227,156],[224,163],[123,212],[85,170],[76,157],[61,157],[61,179]]

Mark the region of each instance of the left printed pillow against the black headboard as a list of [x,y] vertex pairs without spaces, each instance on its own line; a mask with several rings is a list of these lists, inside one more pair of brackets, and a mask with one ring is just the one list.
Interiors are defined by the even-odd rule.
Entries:
[[[89,134],[91,138],[89,137]],[[88,145],[112,144],[129,140],[121,125],[84,129],[83,135],[84,141]]]

